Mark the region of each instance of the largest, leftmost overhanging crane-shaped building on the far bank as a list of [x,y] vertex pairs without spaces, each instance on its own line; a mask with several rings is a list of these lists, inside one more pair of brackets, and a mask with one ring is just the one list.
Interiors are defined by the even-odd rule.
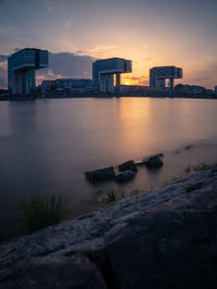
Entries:
[[11,93],[28,95],[36,88],[36,70],[48,66],[48,51],[25,48],[8,59],[8,84]]

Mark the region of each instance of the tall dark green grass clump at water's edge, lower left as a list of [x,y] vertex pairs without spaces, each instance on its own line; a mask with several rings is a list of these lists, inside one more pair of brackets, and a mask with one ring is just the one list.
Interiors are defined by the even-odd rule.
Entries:
[[61,196],[34,193],[22,201],[23,226],[27,233],[59,224],[64,215],[64,201]]

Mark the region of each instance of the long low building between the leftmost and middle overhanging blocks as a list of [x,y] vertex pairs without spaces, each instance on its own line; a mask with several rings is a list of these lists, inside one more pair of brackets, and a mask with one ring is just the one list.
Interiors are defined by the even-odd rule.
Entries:
[[93,92],[99,91],[100,84],[85,78],[58,78],[56,91]]

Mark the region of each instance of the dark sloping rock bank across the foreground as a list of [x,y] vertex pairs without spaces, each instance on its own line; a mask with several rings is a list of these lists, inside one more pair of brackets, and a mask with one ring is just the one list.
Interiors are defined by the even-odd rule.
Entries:
[[217,166],[0,247],[0,288],[217,288]]

